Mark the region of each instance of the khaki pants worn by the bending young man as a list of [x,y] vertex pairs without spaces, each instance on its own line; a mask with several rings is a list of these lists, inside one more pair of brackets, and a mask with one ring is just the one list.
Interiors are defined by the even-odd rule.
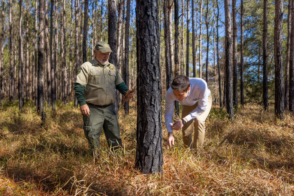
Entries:
[[[211,95],[208,96],[208,103],[206,110],[199,115],[197,118],[188,121],[182,128],[183,132],[183,142],[184,145],[190,148],[197,148],[203,145],[204,135],[205,135],[205,120],[210,112],[212,105]],[[198,106],[198,102],[195,105],[188,106],[182,105],[182,118],[187,116],[191,111],[193,111]],[[192,141],[193,125],[194,122],[194,143]]]

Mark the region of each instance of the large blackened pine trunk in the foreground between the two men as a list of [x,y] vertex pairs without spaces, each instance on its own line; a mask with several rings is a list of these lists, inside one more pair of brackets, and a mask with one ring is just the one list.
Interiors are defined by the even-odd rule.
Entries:
[[137,151],[135,166],[144,174],[163,173],[160,37],[158,1],[136,1]]

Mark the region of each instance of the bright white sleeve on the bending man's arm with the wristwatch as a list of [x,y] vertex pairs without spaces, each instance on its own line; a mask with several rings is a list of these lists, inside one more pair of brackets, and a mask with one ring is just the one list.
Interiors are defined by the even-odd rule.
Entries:
[[197,118],[206,110],[207,103],[208,103],[208,96],[209,96],[209,90],[207,88],[207,83],[205,83],[205,88],[202,88],[199,93],[198,106],[192,112],[190,112],[187,116],[185,116],[187,121]]

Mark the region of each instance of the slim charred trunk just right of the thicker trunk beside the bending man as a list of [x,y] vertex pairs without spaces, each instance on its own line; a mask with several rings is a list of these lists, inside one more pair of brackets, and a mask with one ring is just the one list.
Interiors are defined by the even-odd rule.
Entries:
[[236,22],[236,0],[232,0],[233,19],[233,105],[238,107],[238,80],[237,80],[237,22]]

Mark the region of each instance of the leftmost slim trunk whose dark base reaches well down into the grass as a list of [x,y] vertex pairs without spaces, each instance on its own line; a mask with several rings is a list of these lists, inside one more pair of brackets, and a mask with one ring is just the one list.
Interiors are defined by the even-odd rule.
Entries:
[[18,95],[19,95],[19,110],[22,111],[24,105],[24,53],[22,48],[22,0],[19,0],[19,71],[18,71]]

